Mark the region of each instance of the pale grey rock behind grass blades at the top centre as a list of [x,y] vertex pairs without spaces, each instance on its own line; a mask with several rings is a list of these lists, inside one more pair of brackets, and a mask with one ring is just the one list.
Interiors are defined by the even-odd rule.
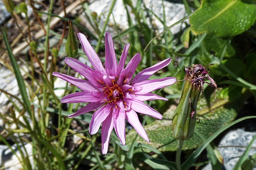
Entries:
[[[88,8],[90,12],[96,12],[98,18],[98,24],[99,27],[102,28],[103,25],[106,22],[106,16],[110,10],[112,0],[95,0],[92,1]],[[134,6],[136,6],[137,0],[132,0]],[[182,3],[176,3],[180,2],[179,0],[176,1],[162,1],[162,0],[144,0],[142,8],[148,8],[149,10],[152,10],[156,16],[158,16],[161,20],[164,20],[164,10],[165,10],[165,17],[166,17],[166,26],[170,26],[173,23],[177,22],[178,20],[181,20],[186,16],[186,10],[184,7],[184,4]],[[164,6],[164,7],[163,7]],[[134,14],[132,12],[132,9],[127,6],[132,20],[134,20]],[[150,13],[150,12],[149,12]],[[119,29],[124,31],[128,28],[128,17],[126,13],[126,8],[124,6],[123,1],[116,1],[116,4],[114,6],[113,15],[110,16],[108,26],[106,28],[106,31],[109,31],[111,33],[116,32],[116,28],[114,24],[118,26]],[[146,11],[144,13],[145,16],[148,16]],[[164,30],[164,25],[159,21],[152,13],[150,13],[152,20],[149,20],[147,17],[147,21],[149,25],[155,25],[159,32]],[[114,16],[114,17],[113,17]],[[85,14],[80,16],[80,19],[84,24],[86,24],[86,27],[89,28],[92,32],[94,32],[94,29],[90,26],[88,20],[86,19]],[[150,23],[152,22],[152,23]],[[184,27],[185,25],[182,25]],[[172,27],[170,30],[172,33],[176,34],[180,32],[181,24],[178,24],[174,27]],[[113,33],[112,35],[115,35],[116,33]]]

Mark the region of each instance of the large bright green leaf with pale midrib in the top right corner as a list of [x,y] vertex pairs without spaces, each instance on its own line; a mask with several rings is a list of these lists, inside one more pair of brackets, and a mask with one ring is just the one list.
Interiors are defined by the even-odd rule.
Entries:
[[218,37],[238,35],[256,21],[255,0],[203,0],[190,17],[195,35],[216,34]]

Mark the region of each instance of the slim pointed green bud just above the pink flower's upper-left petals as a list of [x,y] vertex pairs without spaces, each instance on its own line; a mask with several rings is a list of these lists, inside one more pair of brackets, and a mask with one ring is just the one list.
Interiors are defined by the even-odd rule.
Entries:
[[72,22],[70,20],[68,21],[68,38],[65,45],[65,50],[66,50],[67,56],[71,58],[76,57],[78,52],[74,29],[72,26]]

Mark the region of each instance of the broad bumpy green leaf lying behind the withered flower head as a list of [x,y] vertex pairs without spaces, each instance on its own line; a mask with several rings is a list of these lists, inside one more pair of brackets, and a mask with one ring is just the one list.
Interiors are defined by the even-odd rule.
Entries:
[[[206,89],[207,90],[207,89]],[[204,93],[206,95],[206,92]],[[211,97],[201,98],[197,106],[197,118],[200,119],[199,123],[196,123],[195,131],[200,132],[204,137],[208,138],[213,135],[220,128],[224,127],[231,121],[233,121],[240,109],[239,104],[242,104],[244,98],[236,100],[236,104],[232,104],[228,101],[228,98],[220,98],[220,92],[217,92],[216,98],[214,94]],[[164,119],[156,120],[150,125],[146,125],[144,128],[150,143],[139,137],[137,142],[150,145],[151,147],[157,148],[159,151],[174,151],[177,149],[177,140],[172,137],[172,117],[176,106],[172,105],[166,113],[164,113]],[[127,144],[132,142],[132,139],[136,135],[136,131],[131,130],[126,135]],[[203,143],[201,137],[197,134],[184,141],[183,150],[194,149],[199,147]],[[145,151],[148,151],[145,149]]]

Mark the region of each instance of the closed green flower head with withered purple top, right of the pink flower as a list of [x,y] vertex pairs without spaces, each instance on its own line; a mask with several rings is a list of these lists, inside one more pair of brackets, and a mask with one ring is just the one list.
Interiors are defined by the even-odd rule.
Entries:
[[200,119],[196,118],[196,106],[199,95],[203,92],[204,80],[208,78],[211,82],[210,86],[214,90],[217,88],[216,83],[210,78],[206,68],[202,65],[197,64],[194,67],[185,68],[185,70],[184,88],[172,119],[172,133],[174,138],[182,141],[188,140],[193,136],[196,120],[200,121]]

